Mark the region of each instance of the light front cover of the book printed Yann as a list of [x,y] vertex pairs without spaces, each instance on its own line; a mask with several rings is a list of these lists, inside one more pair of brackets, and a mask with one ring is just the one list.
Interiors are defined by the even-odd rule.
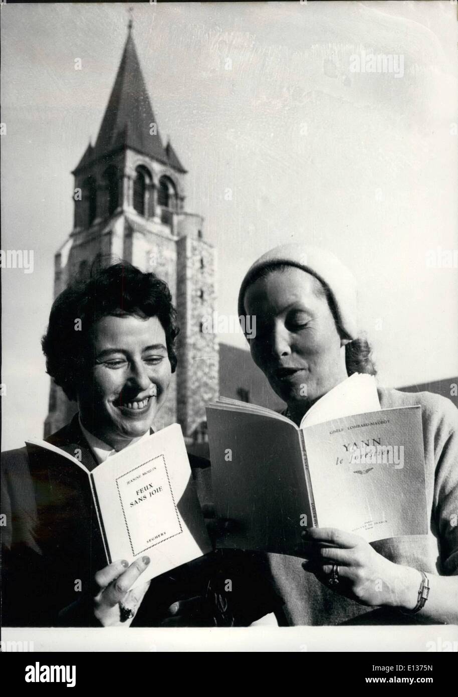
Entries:
[[368,542],[428,530],[421,407],[303,429],[319,527]]

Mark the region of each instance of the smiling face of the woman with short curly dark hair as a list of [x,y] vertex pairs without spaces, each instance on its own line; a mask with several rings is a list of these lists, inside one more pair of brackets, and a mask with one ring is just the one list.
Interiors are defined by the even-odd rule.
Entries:
[[157,317],[102,317],[92,350],[77,395],[81,422],[121,450],[150,429],[166,399],[171,364],[164,328]]

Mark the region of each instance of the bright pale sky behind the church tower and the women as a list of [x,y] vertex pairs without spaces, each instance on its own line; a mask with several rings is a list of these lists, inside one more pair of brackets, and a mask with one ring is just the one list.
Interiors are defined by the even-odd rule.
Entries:
[[[40,336],[72,227],[70,170],[97,136],[127,7],[1,6],[1,249],[34,252],[33,273],[2,269],[2,449],[42,436]],[[361,282],[382,383],[458,373],[458,270],[427,266],[458,247],[457,26],[448,1],[135,5],[159,129],[219,252],[220,313],[236,314],[257,256],[307,241]],[[403,75],[352,72],[362,52],[402,56]]]

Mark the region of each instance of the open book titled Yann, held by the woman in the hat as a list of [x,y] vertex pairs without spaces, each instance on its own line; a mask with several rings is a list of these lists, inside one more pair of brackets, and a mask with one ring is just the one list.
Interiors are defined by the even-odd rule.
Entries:
[[421,407],[381,410],[372,376],[319,399],[297,427],[221,397],[207,407],[218,546],[301,556],[304,526],[368,542],[428,530]]

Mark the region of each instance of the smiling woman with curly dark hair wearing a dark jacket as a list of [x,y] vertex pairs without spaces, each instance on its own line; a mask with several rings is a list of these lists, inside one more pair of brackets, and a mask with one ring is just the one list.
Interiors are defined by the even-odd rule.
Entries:
[[[49,443],[93,470],[148,437],[177,366],[177,333],[171,293],[152,273],[122,262],[72,282],[54,301],[42,348],[47,372],[79,412]],[[31,468],[26,448],[2,454],[3,625],[235,622],[211,583],[220,556],[210,553],[131,589],[150,558],[106,565],[92,497],[85,498],[74,473],[66,475],[47,454],[39,459]],[[210,463],[193,455],[189,463],[201,496]],[[264,614],[253,607],[239,622]]]

